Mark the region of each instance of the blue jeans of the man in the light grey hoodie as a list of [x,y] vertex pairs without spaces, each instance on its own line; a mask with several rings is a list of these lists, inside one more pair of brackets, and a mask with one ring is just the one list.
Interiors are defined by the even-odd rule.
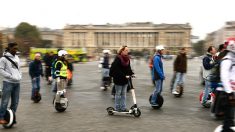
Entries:
[[11,98],[10,109],[16,112],[19,103],[19,94],[20,94],[20,83],[10,83],[3,81],[0,119],[4,119],[4,115],[6,113],[10,98]]

